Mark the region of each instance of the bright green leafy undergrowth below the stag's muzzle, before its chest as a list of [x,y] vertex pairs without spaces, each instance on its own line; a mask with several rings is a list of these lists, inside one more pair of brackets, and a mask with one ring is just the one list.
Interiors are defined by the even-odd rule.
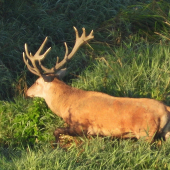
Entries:
[[0,146],[25,147],[50,142],[54,128],[62,125],[61,119],[39,98],[29,104],[23,99],[1,102],[0,108]]

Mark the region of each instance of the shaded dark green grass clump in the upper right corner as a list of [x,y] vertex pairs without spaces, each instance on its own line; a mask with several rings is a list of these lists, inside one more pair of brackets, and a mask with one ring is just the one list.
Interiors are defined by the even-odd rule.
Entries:
[[159,42],[160,36],[155,33],[170,33],[166,24],[170,20],[169,1],[148,1],[128,6],[118,15],[103,23],[100,32],[105,32],[107,41],[120,44],[121,40],[134,35],[145,37],[148,41]]

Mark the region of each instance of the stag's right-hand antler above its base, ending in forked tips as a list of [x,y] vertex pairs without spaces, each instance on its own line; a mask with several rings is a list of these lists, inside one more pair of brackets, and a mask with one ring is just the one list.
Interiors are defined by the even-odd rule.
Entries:
[[90,34],[88,36],[86,36],[86,30],[85,30],[85,28],[82,28],[83,33],[82,33],[81,37],[79,37],[79,33],[78,33],[76,27],[73,27],[73,28],[74,28],[75,34],[76,34],[75,45],[74,45],[71,53],[68,55],[67,43],[64,43],[65,48],[66,48],[65,56],[64,56],[64,59],[60,63],[58,63],[58,64],[56,63],[56,66],[54,68],[55,71],[59,70],[68,60],[70,60],[82,44],[84,44],[86,41],[94,38],[93,30],[90,32]]

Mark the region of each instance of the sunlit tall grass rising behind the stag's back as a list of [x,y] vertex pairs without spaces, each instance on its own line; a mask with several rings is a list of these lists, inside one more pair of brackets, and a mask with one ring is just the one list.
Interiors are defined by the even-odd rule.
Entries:
[[95,64],[74,79],[75,87],[114,96],[148,97],[167,101],[169,46],[147,42],[123,43],[98,55]]

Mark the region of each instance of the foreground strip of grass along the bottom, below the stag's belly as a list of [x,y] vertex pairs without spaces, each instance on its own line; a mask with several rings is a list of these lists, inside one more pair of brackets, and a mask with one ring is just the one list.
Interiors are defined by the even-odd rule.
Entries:
[[[169,169],[169,142],[156,148],[142,141],[111,141],[107,138],[85,140],[68,150],[42,145],[34,150],[0,151],[2,170],[20,169]],[[8,153],[8,154],[7,154]],[[3,156],[2,156],[3,154]]]

